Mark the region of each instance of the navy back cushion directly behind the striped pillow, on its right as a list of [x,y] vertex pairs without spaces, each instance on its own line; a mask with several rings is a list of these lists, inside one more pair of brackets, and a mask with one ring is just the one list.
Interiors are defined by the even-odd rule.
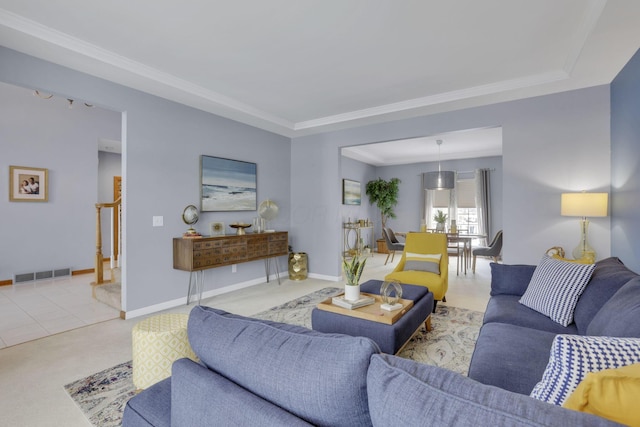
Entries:
[[620,259],[611,257],[596,262],[591,280],[576,304],[573,319],[580,335],[587,334],[589,324],[603,304],[629,280],[638,277]]

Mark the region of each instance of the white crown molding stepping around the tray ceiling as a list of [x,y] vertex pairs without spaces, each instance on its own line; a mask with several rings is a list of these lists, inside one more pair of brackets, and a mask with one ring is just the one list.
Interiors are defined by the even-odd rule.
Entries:
[[[261,127],[287,136],[298,133],[313,132],[335,125],[346,125],[349,122],[375,119],[382,116],[392,116],[398,113],[420,111],[427,107],[440,104],[478,99],[483,96],[495,95],[509,91],[533,89],[547,84],[562,82],[570,79],[574,67],[580,57],[583,47],[589,35],[593,32],[600,19],[608,0],[587,0],[588,6],[582,17],[580,25],[572,36],[570,46],[561,70],[526,76],[512,80],[494,82],[485,85],[474,86],[461,90],[434,94],[415,99],[395,102],[377,107],[364,108],[316,119],[294,123],[282,117],[255,108],[237,99],[222,95],[210,89],[193,84],[184,79],[175,77],[169,73],[146,66],[137,61],[119,55],[115,52],[103,49],[94,44],[72,37],[66,33],[42,25],[38,22],[24,18],[23,16],[0,9],[0,26],[10,28],[18,33],[30,36],[48,46],[56,46],[78,55],[81,61],[96,61],[99,64],[111,67],[116,71],[115,76],[107,72],[102,73],[103,78],[108,78],[119,84],[135,89],[144,86],[144,91],[157,96],[172,99],[194,108],[202,109],[213,114],[221,115],[233,120]],[[28,53],[28,52],[27,52]],[[64,65],[64,64],[61,64]],[[89,67],[90,68],[90,67]],[[82,70],[79,70],[82,71]],[[91,73],[91,71],[84,70]],[[94,71],[93,74],[97,72]],[[136,87],[137,83],[141,83]],[[306,132],[305,132],[306,131]]]

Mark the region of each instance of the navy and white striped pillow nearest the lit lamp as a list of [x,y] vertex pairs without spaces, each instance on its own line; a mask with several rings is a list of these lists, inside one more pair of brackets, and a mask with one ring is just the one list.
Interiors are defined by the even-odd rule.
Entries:
[[520,304],[568,326],[573,322],[578,298],[595,268],[595,264],[576,264],[545,255],[533,272]]

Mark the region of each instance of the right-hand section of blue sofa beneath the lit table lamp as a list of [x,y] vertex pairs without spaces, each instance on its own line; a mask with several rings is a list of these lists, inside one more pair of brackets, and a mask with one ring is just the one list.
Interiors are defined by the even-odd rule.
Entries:
[[640,277],[618,258],[596,263],[566,327],[519,303],[535,269],[491,264],[491,299],[469,378],[529,395],[542,379],[556,335],[640,337]]

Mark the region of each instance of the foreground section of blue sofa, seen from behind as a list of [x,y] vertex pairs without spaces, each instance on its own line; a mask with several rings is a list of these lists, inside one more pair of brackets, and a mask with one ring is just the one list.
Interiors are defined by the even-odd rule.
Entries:
[[193,308],[171,378],[134,396],[124,427],[612,426],[602,418],[326,334]]

